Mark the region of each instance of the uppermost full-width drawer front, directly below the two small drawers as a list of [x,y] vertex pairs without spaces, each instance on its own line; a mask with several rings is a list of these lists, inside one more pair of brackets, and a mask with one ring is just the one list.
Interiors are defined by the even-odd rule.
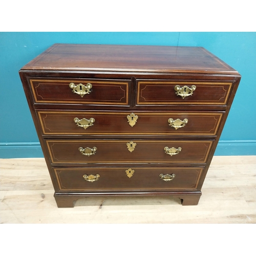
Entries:
[[45,135],[208,135],[218,132],[224,112],[37,111]]

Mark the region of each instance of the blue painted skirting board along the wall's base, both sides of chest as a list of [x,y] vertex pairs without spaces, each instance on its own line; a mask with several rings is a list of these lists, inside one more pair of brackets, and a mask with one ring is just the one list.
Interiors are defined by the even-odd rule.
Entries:
[[[256,140],[221,140],[215,156],[252,156],[256,155]],[[0,158],[40,158],[39,142],[0,143]]]

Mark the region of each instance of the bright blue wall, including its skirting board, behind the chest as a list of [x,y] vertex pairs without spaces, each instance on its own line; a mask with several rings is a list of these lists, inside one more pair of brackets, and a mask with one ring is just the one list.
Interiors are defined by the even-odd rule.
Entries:
[[206,48],[242,75],[216,155],[256,155],[254,32],[1,32],[0,158],[42,157],[18,71],[57,42]]

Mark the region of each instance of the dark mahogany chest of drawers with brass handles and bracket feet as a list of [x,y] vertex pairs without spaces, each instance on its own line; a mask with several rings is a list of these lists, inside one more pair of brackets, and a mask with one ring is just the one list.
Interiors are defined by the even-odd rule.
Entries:
[[69,44],[19,74],[58,207],[89,196],[198,204],[241,78],[201,47]]

